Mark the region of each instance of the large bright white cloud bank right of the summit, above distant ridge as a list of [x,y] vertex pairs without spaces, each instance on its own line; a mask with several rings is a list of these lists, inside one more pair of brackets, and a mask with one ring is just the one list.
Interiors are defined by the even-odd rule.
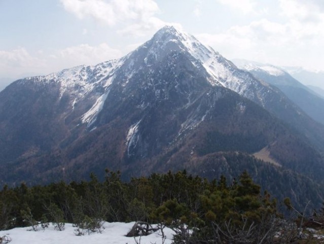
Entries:
[[281,66],[302,64],[307,69],[323,70],[323,32],[321,21],[309,23],[290,18],[280,23],[261,19],[232,26],[223,33],[197,37],[227,58],[242,57]]

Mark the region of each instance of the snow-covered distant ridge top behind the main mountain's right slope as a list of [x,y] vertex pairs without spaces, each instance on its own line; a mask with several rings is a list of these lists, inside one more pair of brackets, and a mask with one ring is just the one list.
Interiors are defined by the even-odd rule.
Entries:
[[244,59],[234,59],[233,62],[238,68],[246,71],[264,71],[273,76],[282,76],[286,74],[281,68],[269,64],[261,64]]

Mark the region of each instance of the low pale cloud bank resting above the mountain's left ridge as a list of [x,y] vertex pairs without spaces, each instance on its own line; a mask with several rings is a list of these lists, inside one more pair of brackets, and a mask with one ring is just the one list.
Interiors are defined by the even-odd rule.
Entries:
[[0,50],[0,77],[44,75],[78,65],[95,65],[124,54],[126,53],[111,48],[106,43],[98,46],[81,44],[51,53],[39,50],[31,54],[23,47],[10,51]]

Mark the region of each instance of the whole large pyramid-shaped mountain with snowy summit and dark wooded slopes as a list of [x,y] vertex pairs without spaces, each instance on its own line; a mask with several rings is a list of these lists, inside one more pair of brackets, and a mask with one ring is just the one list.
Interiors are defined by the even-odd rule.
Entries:
[[172,26],[120,59],[17,80],[0,93],[1,182],[247,169],[321,204],[324,126],[270,83]]

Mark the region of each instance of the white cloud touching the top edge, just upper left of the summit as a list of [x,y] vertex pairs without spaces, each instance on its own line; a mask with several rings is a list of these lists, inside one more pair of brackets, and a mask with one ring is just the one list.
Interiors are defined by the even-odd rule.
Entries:
[[[145,35],[168,24],[156,17],[153,0],[60,0],[64,9],[80,19],[92,17],[108,26],[121,25],[122,34]],[[125,27],[126,26],[126,27]]]

